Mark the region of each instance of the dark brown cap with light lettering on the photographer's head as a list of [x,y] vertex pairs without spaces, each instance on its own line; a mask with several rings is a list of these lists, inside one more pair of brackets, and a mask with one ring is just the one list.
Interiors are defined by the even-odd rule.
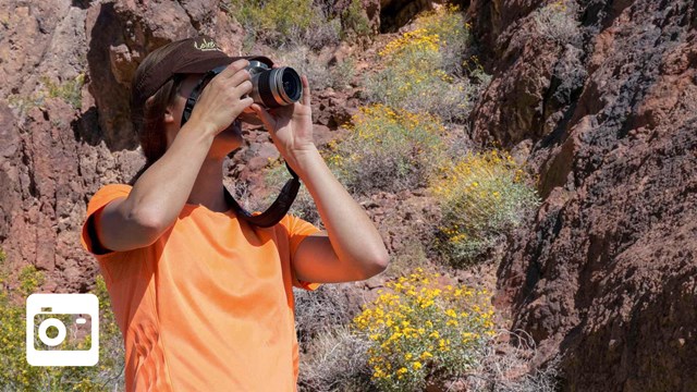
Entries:
[[178,74],[206,73],[240,59],[258,60],[269,66],[273,65],[270,59],[262,56],[229,57],[212,38],[206,36],[169,45],[173,46],[172,50],[160,62],[138,75],[138,79],[133,81],[133,105],[142,107],[167,81]]

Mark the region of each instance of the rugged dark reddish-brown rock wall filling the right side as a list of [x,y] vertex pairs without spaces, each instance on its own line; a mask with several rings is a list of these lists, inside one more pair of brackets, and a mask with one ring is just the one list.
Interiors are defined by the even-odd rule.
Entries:
[[567,390],[695,390],[695,3],[590,1],[570,42],[541,34],[536,7],[470,10],[494,73],[473,135],[531,139],[545,197],[498,301],[540,360],[564,356]]

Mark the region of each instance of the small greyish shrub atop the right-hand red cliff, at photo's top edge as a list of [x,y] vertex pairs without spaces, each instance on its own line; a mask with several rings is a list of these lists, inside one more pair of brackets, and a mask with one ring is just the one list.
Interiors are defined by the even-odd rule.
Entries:
[[547,4],[534,13],[535,25],[542,37],[550,38],[564,46],[580,44],[580,34],[576,13],[578,5],[574,1],[557,1]]

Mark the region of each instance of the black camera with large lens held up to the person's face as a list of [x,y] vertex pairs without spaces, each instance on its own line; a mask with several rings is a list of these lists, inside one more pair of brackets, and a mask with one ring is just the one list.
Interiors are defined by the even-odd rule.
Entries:
[[301,76],[290,66],[271,69],[261,61],[249,61],[245,69],[252,76],[249,97],[267,108],[278,108],[297,102],[303,95]]

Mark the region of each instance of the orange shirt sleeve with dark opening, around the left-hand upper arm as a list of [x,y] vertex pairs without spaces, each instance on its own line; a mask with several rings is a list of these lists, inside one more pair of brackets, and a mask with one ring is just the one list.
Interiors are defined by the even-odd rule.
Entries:
[[103,186],[91,197],[87,205],[87,217],[85,218],[80,237],[83,247],[87,252],[96,256],[103,256],[111,253],[111,250],[106,249],[99,243],[96,221],[99,219],[99,215],[105,206],[118,198],[127,197],[130,193],[130,185],[112,184]]

